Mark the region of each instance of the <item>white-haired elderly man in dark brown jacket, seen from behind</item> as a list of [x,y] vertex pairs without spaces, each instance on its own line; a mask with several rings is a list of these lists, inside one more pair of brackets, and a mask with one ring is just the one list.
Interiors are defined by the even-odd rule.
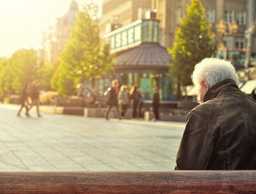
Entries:
[[200,105],[187,115],[176,170],[255,170],[256,101],[239,88],[234,66],[205,58],[192,81]]

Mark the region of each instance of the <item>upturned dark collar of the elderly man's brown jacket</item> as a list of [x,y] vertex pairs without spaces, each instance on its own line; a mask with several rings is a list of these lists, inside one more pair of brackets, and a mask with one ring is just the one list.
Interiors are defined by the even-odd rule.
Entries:
[[233,91],[240,91],[240,89],[235,84],[235,81],[233,79],[225,79],[213,85],[213,87],[211,87],[210,89],[208,89],[208,91],[205,93],[203,97],[203,102],[213,100],[217,96]]

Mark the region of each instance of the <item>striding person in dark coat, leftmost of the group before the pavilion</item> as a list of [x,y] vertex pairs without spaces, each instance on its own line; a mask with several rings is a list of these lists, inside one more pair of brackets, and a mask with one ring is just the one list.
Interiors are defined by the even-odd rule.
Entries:
[[108,99],[107,99],[107,113],[105,118],[108,120],[108,114],[111,110],[112,107],[115,108],[116,114],[117,114],[117,118],[120,120],[121,117],[119,115],[119,111],[118,111],[118,100],[117,100],[117,94],[118,94],[118,79],[115,79],[112,81],[112,87],[109,89],[108,91]]

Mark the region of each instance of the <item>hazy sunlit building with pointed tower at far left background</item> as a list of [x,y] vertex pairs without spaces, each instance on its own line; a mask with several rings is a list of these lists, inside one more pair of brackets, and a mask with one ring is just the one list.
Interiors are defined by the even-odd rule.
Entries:
[[73,0],[70,3],[69,11],[64,16],[57,18],[55,25],[49,26],[47,31],[42,32],[39,55],[46,64],[59,58],[59,52],[64,50],[64,44],[70,39],[70,26],[74,26],[77,11],[78,4]]

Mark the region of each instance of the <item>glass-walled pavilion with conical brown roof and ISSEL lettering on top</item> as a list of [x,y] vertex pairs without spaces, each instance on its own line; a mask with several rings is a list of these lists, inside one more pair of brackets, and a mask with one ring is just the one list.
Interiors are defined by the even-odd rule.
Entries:
[[102,75],[94,85],[100,95],[118,79],[119,85],[130,89],[137,84],[145,95],[152,100],[153,88],[160,89],[161,100],[175,100],[175,84],[167,76],[170,54],[158,43],[157,20],[138,20],[106,34],[105,42],[110,52],[115,53],[113,72]]

